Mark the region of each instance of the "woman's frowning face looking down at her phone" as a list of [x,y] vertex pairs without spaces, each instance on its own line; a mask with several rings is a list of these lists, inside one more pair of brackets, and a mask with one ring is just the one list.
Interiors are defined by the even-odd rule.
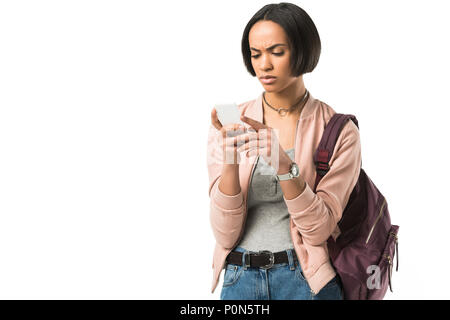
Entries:
[[[273,47],[276,44],[281,45]],[[267,92],[281,91],[297,79],[291,76],[291,51],[287,36],[279,24],[270,20],[255,23],[250,29],[249,45],[253,69]],[[276,78],[266,83],[261,79],[266,75]]]

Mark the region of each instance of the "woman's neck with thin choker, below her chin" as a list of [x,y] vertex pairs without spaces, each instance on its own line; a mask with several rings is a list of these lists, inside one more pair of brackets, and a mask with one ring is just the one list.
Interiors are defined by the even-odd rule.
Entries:
[[[298,80],[294,81],[290,86],[284,88],[281,91],[278,92],[265,92],[265,98],[266,101],[274,108],[279,109],[279,108],[289,108],[290,106],[292,106],[294,103],[298,102],[299,99],[301,99],[301,97],[303,97],[303,95],[306,92],[306,88],[305,88],[305,84],[303,83],[303,76],[298,77]],[[300,107],[302,107],[304,103],[299,104],[296,106],[295,110],[301,111],[299,110]],[[269,106],[267,106],[264,103],[263,100],[263,105],[264,105],[264,111],[266,110],[272,110]],[[274,110],[272,110],[273,112],[275,112]],[[296,112],[294,112],[296,113]]]

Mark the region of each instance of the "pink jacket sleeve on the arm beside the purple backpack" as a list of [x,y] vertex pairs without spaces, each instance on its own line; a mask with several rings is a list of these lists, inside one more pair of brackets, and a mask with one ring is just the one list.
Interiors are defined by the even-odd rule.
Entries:
[[329,165],[316,193],[306,183],[305,190],[296,198],[284,198],[303,240],[313,246],[327,241],[336,229],[359,178],[361,144],[353,121],[348,120],[342,128]]

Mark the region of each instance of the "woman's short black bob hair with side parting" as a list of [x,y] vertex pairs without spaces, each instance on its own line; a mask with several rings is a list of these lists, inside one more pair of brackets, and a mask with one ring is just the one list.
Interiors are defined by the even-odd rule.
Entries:
[[259,20],[270,20],[279,24],[286,32],[291,48],[291,73],[298,77],[312,72],[319,62],[320,37],[314,22],[305,10],[299,6],[280,2],[262,7],[250,19],[242,36],[242,56],[245,66],[252,76],[256,76],[251,61],[248,35],[250,29]]

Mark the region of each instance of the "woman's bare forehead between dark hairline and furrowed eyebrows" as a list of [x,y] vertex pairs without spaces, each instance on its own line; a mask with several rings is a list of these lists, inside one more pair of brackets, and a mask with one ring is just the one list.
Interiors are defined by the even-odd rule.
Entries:
[[250,47],[259,50],[265,50],[277,43],[288,44],[286,33],[278,23],[263,20],[252,26],[248,35],[248,41]]

